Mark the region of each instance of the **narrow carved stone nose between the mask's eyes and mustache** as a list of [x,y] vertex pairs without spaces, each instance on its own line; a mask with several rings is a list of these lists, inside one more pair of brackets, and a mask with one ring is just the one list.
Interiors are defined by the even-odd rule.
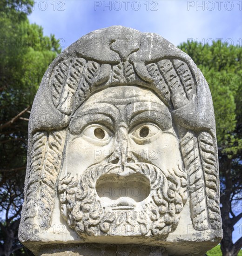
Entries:
[[123,169],[127,163],[137,162],[130,150],[128,129],[126,127],[121,126],[116,132],[114,152],[110,155],[109,162],[119,163]]

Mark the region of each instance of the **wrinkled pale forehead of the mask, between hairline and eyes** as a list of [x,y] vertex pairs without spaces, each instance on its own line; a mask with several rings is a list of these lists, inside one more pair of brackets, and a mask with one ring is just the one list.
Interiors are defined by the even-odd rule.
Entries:
[[134,118],[133,113],[138,115],[143,111],[159,113],[157,117],[161,116],[163,122],[167,124],[165,127],[171,127],[171,114],[155,93],[137,86],[117,86],[104,89],[88,98],[75,112],[70,122],[70,130],[75,130],[76,126],[79,126],[80,119],[92,112],[113,115],[115,118],[121,118],[122,115]]

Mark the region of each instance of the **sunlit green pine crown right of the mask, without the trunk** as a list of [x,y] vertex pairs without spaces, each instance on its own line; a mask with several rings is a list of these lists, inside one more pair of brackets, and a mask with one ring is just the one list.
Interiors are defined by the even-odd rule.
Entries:
[[201,69],[212,94],[218,147],[232,158],[242,149],[241,135],[236,126],[241,124],[242,115],[242,47],[229,46],[221,41],[213,45],[183,43],[185,51]]

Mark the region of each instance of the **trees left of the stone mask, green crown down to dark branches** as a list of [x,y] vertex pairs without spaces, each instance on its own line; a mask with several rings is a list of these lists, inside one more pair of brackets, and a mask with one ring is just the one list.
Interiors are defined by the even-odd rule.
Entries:
[[43,74],[61,53],[54,35],[44,36],[42,27],[29,23],[33,5],[33,0],[0,2],[0,255],[30,255],[17,238],[28,117]]

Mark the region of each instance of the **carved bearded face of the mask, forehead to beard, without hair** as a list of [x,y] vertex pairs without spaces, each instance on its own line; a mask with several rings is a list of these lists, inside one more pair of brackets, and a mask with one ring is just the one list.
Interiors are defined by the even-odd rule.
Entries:
[[58,191],[61,214],[80,236],[166,237],[186,185],[171,115],[152,91],[107,88],[74,114]]

